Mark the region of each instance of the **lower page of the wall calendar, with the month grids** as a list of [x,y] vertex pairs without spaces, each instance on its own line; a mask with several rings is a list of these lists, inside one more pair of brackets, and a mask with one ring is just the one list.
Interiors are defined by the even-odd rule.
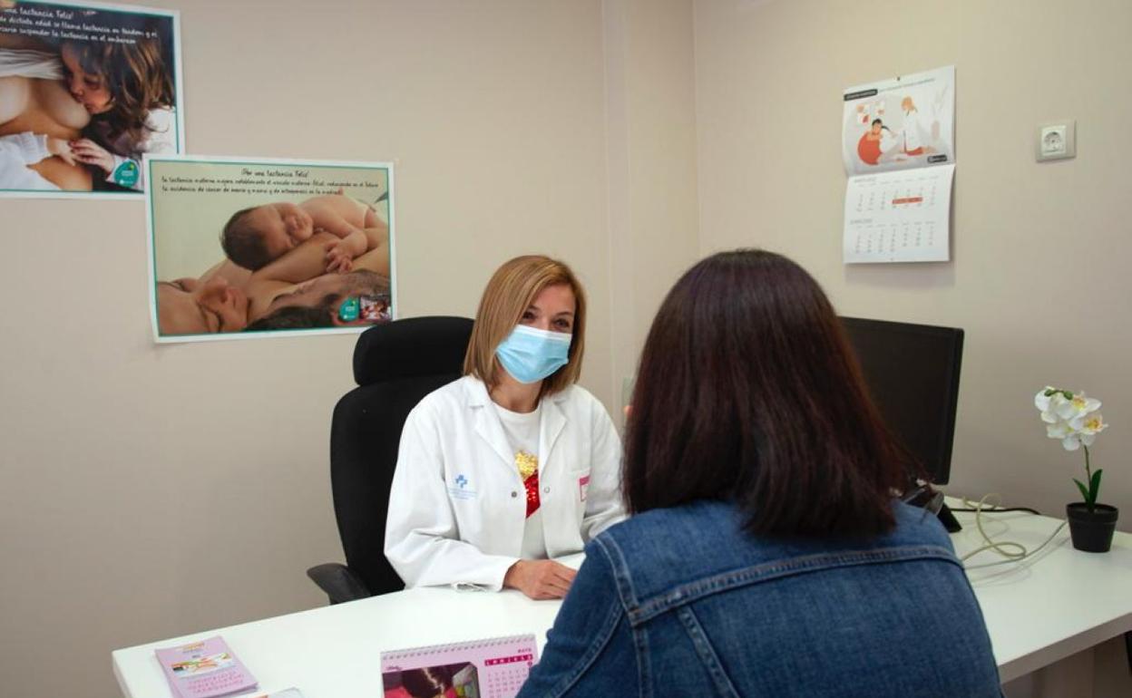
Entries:
[[938,165],[849,178],[844,262],[947,261],[954,173]]

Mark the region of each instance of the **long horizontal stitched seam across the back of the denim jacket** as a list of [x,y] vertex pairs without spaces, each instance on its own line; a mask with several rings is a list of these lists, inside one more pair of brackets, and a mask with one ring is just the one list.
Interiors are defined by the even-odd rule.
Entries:
[[632,606],[626,604],[626,613],[629,623],[637,626],[674,607],[734,587],[761,584],[823,569],[927,559],[962,567],[952,551],[940,545],[902,545],[881,550],[822,552],[798,558],[774,560],[696,579],[695,581],[683,584],[664,592],[659,596],[643,600]]

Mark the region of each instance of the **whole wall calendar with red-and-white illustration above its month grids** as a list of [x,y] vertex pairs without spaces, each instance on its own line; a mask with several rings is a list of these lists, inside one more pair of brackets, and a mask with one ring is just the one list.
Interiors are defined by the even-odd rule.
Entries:
[[844,91],[844,264],[951,259],[955,68]]

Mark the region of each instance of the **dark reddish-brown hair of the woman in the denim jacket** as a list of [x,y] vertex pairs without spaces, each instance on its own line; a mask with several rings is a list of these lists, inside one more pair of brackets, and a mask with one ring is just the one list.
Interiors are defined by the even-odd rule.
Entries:
[[867,535],[894,524],[901,451],[821,286],[789,259],[720,252],[664,299],[625,437],[636,514],[734,501],[751,533]]

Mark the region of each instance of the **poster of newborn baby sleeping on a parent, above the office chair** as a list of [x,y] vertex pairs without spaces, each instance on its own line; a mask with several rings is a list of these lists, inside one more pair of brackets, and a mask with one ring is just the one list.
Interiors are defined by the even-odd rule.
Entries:
[[158,343],[395,317],[388,163],[146,155],[143,169]]

